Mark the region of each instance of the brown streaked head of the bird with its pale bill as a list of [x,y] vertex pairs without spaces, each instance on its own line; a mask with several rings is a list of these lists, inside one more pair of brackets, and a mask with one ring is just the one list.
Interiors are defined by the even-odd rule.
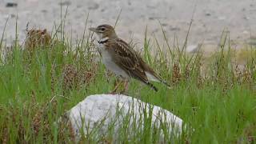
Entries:
[[93,31],[98,35],[99,39],[102,38],[118,38],[115,34],[114,27],[110,25],[100,25],[97,27],[91,27],[89,30]]

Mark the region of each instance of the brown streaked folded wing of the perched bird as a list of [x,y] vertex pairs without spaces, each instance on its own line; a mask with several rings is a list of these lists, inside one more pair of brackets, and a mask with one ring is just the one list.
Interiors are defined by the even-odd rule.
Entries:
[[145,70],[142,66],[142,58],[132,49],[126,42],[118,38],[108,42],[112,50],[114,50],[114,62],[120,66],[131,77],[148,84]]

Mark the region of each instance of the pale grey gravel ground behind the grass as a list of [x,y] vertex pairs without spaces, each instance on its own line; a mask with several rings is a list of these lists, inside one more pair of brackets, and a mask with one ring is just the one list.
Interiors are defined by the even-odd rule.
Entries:
[[[6,6],[8,2],[17,6]],[[174,34],[179,42],[186,38],[190,19],[194,12],[194,21],[190,31],[189,46],[203,42],[217,45],[222,30],[230,30],[230,38],[234,42],[244,42],[256,32],[255,0],[0,0],[0,32],[2,33],[6,19],[6,41],[10,43],[15,37],[15,21],[18,14],[18,37],[25,38],[26,23],[30,27],[52,30],[54,22],[60,22],[60,7],[66,9],[66,32],[73,38],[80,37],[90,12],[89,26],[102,23],[114,25],[119,11],[122,9],[117,33],[121,38],[142,44],[143,34],[148,26],[150,36],[162,39],[162,23],[167,38],[174,41]],[[195,9],[194,9],[195,7]]]

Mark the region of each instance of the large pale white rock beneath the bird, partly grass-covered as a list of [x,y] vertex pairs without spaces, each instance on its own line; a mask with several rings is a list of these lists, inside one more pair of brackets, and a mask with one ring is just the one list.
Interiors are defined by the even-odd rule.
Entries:
[[[145,111],[146,113],[144,113]],[[149,114],[149,111],[152,113]],[[143,130],[144,118],[149,118],[149,116],[152,116],[151,126],[158,126],[158,128],[160,125],[166,126],[168,135],[178,136],[182,132],[181,118],[167,110],[163,110],[161,107],[147,104],[137,98],[126,95],[90,95],[69,110],[66,116],[73,126],[77,140],[81,138],[79,132],[81,130],[84,131],[84,134],[90,134],[92,130],[97,130],[98,135],[104,135],[110,126],[114,126],[113,136],[114,141],[116,141],[119,135],[118,130],[121,130],[123,123],[129,125],[128,131],[132,133],[134,124],[136,124],[136,128],[142,128],[141,130]],[[130,120],[124,122],[127,118],[130,118]],[[160,128],[159,130],[160,138],[162,139],[164,133]]]

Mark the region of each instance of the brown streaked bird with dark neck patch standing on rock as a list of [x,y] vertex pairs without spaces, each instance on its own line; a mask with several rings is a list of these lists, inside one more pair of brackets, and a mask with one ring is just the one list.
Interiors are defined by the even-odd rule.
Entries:
[[106,69],[125,80],[126,90],[128,89],[130,78],[137,79],[150,86],[154,91],[158,91],[158,88],[150,81],[162,82],[170,88],[170,85],[143,61],[140,54],[133,47],[118,38],[113,26],[103,24],[97,27],[90,27],[89,30],[98,35],[96,47],[102,56],[102,63],[106,66]]

